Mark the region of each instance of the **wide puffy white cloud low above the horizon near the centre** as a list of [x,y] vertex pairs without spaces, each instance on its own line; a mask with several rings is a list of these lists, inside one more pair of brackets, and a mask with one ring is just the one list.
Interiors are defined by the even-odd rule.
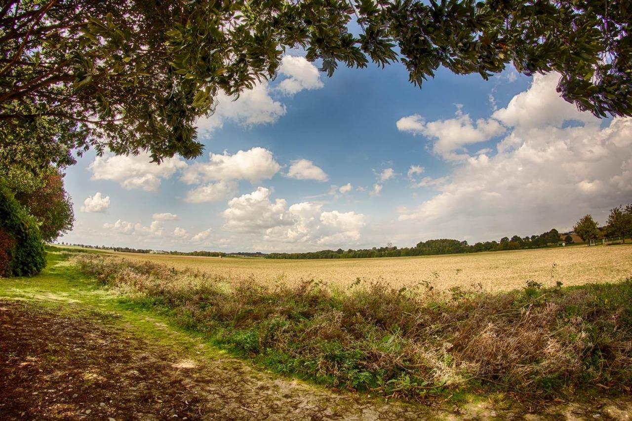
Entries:
[[365,216],[355,212],[323,211],[322,204],[301,202],[288,207],[286,200],[271,200],[272,190],[235,197],[222,212],[224,229],[235,233],[263,235],[265,241],[344,245],[360,238]]

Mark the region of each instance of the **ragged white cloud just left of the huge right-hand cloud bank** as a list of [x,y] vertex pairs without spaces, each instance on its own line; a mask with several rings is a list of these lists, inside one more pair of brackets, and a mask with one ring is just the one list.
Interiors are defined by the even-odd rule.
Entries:
[[480,118],[473,121],[469,114],[464,114],[461,106],[457,107],[454,118],[427,122],[419,114],[399,119],[396,123],[399,131],[413,135],[424,135],[432,140],[432,150],[447,161],[459,161],[468,158],[465,146],[484,142],[502,135],[505,128],[497,119]]

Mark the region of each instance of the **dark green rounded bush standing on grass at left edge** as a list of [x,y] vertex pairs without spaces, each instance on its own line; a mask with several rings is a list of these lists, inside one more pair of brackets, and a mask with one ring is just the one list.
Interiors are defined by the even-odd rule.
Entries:
[[0,182],[0,276],[32,276],[46,266],[46,252],[35,218]]

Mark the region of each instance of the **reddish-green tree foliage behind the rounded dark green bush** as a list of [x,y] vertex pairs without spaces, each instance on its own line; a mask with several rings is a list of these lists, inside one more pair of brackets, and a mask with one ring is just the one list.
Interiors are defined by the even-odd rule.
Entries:
[[75,212],[68,192],[64,189],[64,174],[47,167],[37,174],[19,167],[9,170],[7,185],[15,198],[39,223],[44,241],[53,241],[70,231]]

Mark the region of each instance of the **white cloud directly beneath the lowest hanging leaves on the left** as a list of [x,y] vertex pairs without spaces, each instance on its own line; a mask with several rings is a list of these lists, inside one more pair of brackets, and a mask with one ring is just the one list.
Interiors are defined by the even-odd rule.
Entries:
[[137,156],[97,156],[88,169],[92,171],[91,180],[111,180],[128,190],[142,188],[154,192],[158,190],[161,179],[170,178],[179,169],[186,168],[186,162],[179,157],[165,159],[160,165],[150,160],[145,153]]

